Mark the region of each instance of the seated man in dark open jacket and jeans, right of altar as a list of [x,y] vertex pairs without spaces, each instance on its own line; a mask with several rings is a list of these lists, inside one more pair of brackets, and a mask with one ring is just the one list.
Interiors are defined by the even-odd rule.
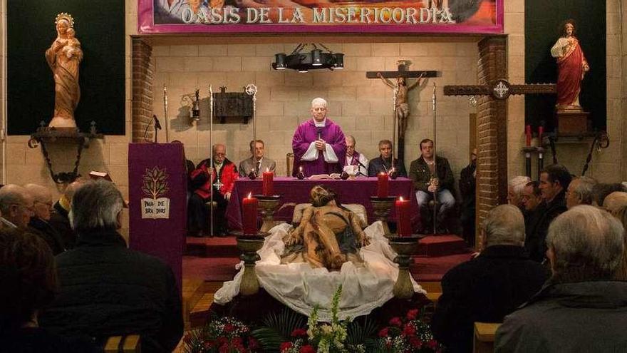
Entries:
[[[420,222],[423,234],[430,233],[432,225],[431,213],[428,203],[433,200],[433,194],[437,194],[437,203],[440,203],[440,210],[436,215],[437,228],[434,233],[445,234],[448,232],[444,225],[447,213],[455,206],[455,198],[450,190],[453,190],[455,179],[444,157],[433,154],[433,141],[425,138],[420,141],[421,155],[413,160],[409,168],[409,178],[414,182],[416,200],[418,200],[418,212],[420,212]],[[436,173],[437,165],[437,173]]]

